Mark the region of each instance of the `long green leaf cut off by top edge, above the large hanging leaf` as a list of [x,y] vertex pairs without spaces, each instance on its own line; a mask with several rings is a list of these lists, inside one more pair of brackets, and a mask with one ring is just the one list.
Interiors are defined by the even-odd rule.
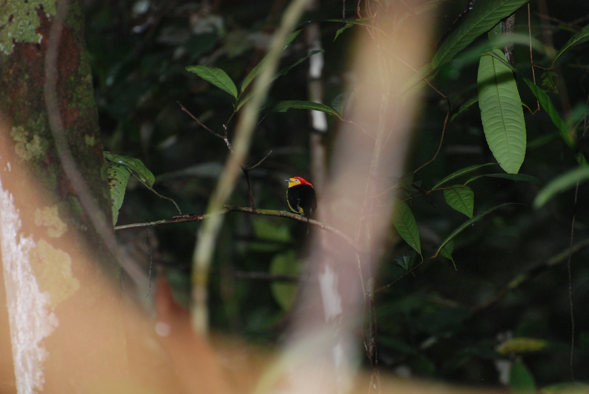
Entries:
[[440,45],[432,58],[431,67],[436,69],[451,61],[475,38],[498,24],[501,19],[511,15],[528,0],[487,0],[477,2],[464,21]]

